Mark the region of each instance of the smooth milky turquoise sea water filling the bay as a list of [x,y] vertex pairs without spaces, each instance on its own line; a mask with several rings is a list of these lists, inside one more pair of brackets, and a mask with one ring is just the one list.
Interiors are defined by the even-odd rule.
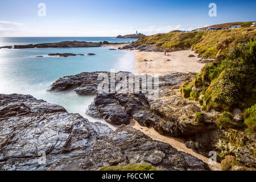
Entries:
[[[18,40],[13,38],[13,41]],[[61,40],[53,38],[49,42]],[[93,41],[92,38],[89,40]],[[10,43],[10,40],[7,42]],[[22,39],[20,44],[25,42],[35,43],[29,42],[29,39]],[[40,43],[43,42],[48,40],[41,40]],[[85,56],[49,57],[48,53],[83,53]],[[87,56],[87,53],[95,53],[96,56]],[[44,57],[34,57],[38,55]],[[38,99],[62,105],[70,113],[85,116],[86,107],[93,101],[93,96],[78,96],[72,90],[67,92],[46,92],[46,90],[57,78],[81,72],[110,71],[110,69],[132,72],[133,61],[133,52],[111,51],[109,47],[0,49],[0,93],[31,94]]]

